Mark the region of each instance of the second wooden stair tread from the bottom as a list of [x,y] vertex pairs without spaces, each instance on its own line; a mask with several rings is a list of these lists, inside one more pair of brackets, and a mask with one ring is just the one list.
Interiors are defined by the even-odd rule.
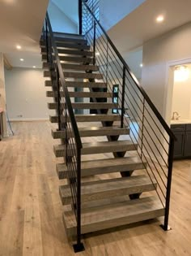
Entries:
[[[134,193],[152,191],[157,187],[156,182],[151,182],[149,176],[130,176],[110,180],[97,180],[81,184],[81,202],[91,202],[110,197],[120,197]],[[72,203],[69,185],[59,187],[62,204]]]

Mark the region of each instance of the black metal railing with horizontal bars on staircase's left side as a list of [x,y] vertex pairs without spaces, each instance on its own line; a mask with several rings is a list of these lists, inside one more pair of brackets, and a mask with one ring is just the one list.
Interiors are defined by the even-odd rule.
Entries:
[[43,28],[43,41],[46,47],[47,63],[53,85],[53,91],[57,91],[57,116],[58,130],[65,132],[62,139],[64,154],[70,181],[72,195],[72,207],[76,216],[77,223],[77,246],[81,244],[81,149],[82,141],[79,136],[74,110],[70,101],[69,91],[66,87],[66,80],[59,59],[56,39],[50,24],[49,15],[46,14],[45,25]]

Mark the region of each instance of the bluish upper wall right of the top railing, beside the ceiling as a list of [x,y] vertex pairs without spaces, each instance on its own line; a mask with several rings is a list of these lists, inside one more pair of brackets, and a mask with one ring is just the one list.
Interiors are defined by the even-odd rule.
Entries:
[[146,0],[100,0],[100,22],[108,30]]

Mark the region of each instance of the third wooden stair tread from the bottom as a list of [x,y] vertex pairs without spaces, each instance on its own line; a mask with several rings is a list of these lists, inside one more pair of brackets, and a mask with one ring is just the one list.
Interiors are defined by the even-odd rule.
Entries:
[[[146,168],[146,163],[142,163],[141,159],[138,157],[107,158],[83,161],[81,163],[81,174],[84,177],[119,171],[140,170],[144,168]],[[59,179],[67,179],[69,177],[66,163],[57,163],[56,169]]]

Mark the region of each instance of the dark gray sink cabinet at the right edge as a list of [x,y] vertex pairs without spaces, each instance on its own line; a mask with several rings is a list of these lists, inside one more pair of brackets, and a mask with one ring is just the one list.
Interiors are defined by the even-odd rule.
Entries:
[[177,139],[174,158],[191,157],[191,124],[172,124],[171,128]]

